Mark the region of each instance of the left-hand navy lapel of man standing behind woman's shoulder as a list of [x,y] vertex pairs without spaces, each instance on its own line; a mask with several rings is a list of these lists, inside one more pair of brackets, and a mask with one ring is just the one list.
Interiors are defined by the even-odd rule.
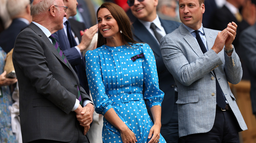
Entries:
[[152,34],[147,30],[147,28],[141,24],[138,19],[136,19],[133,26],[134,29],[136,29],[134,30],[135,38],[140,42],[147,41],[147,44],[149,44],[155,56],[161,56],[160,46]]

